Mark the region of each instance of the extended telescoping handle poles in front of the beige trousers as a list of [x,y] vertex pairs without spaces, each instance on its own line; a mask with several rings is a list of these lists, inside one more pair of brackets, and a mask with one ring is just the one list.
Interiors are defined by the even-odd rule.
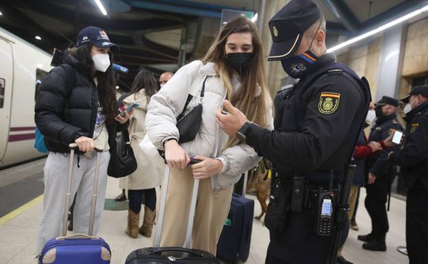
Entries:
[[[171,172],[171,169],[168,165],[165,168],[165,176],[163,178],[163,184],[162,184],[162,194],[160,196],[160,206],[159,206],[159,217],[157,221],[157,228],[156,228],[156,235],[154,237],[154,247],[159,248],[160,247],[160,234],[162,233],[162,225],[163,225],[163,215],[165,213],[165,204],[167,202],[167,191],[168,191],[168,184],[169,184],[169,173]],[[186,243],[185,248],[190,248],[190,242],[191,242],[191,233],[193,229],[193,220],[195,218],[195,208],[196,208],[196,200],[198,198],[198,188],[199,188],[199,180],[193,181],[193,192],[192,192],[192,199],[190,204],[190,211],[189,211],[189,222],[187,223],[187,232],[186,232]]]

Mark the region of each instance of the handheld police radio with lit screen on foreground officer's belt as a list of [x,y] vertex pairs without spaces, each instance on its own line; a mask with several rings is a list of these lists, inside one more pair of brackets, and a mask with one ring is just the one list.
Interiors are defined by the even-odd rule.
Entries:
[[322,191],[320,189],[318,192],[318,217],[316,223],[317,235],[331,235],[333,231],[334,206],[333,191]]

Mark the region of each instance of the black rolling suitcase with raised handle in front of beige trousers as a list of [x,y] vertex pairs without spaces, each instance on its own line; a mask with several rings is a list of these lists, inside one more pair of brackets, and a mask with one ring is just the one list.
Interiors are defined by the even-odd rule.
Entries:
[[198,263],[198,264],[221,264],[215,256],[202,250],[190,249],[193,219],[195,217],[196,199],[198,197],[199,180],[193,182],[193,193],[189,212],[189,223],[187,224],[187,235],[185,248],[160,248],[160,233],[162,232],[163,214],[165,212],[165,201],[167,198],[169,180],[169,167],[165,169],[165,177],[162,184],[162,196],[160,197],[159,217],[156,222],[156,235],[154,248],[141,248],[134,250],[126,258],[125,264],[157,264],[157,263]]

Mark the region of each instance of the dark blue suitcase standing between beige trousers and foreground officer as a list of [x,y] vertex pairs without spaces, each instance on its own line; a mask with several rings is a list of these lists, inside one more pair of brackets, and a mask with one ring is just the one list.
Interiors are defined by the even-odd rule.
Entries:
[[250,254],[254,201],[233,193],[230,211],[217,243],[217,258],[245,262]]

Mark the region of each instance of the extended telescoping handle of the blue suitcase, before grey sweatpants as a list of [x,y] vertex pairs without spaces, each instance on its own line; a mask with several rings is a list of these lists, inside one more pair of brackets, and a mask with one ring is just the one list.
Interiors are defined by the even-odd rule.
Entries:
[[[64,216],[62,218],[62,233],[61,233],[62,237],[65,237],[67,235],[67,221],[69,219],[69,209],[70,209],[70,200],[71,200],[71,178],[73,177],[73,158],[74,158],[75,150],[78,149],[78,144],[71,143],[69,147],[70,147],[69,178],[67,182],[67,195],[65,197]],[[93,225],[95,221],[95,206],[97,204],[99,162],[101,160],[102,150],[95,149],[95,152],[97,152],[97,163],[95,165],[95,178],[94,178],[94,186],[93,186],[92,202],[91,202],[91,215],[89,217],[88,236],[90,237],[92,237],[93,235]]]

